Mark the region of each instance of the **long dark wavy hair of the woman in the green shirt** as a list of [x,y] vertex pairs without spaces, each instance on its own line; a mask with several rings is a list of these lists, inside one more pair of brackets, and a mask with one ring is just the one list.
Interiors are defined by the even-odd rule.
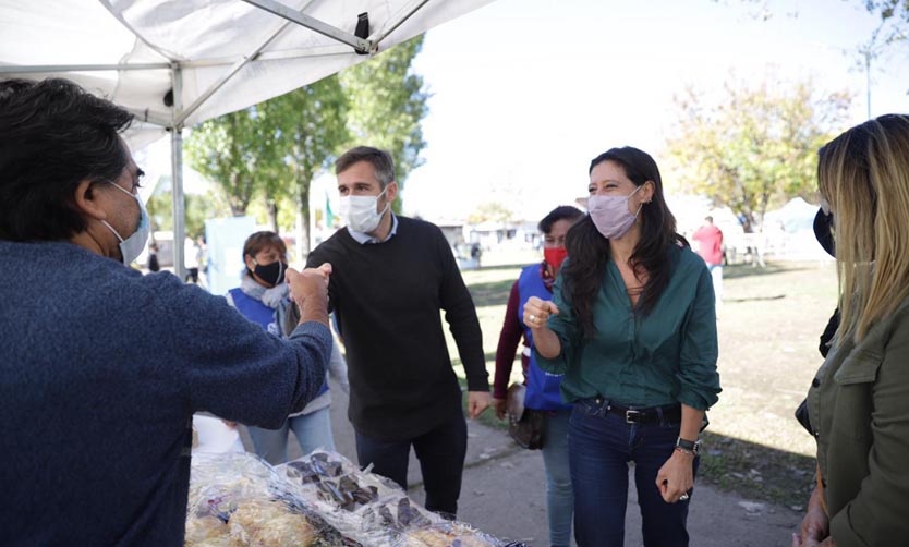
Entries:
[[[647,315],[656,306],[672,275],[669,250],[679,243],[687,245],[687,242],[676,233],[676,218],[663,196],[659,168],[649,154],[630,146],[613,148],[595,157],[587,172],[604,161],[620,166],[635,186],[642,186],[647,181],[653,184],[651,203],[641,207],[641,239],[629,260],[635,274],[647,275],[635,307],[635,313]],[[570,258],[562,268],[562,276],[571,306],[581,321],[584,335],[592,337],[596,331],[593,304],[606,274],[610,256],[609,240],[596,230],[587,215],[568,230],[565,246]]]

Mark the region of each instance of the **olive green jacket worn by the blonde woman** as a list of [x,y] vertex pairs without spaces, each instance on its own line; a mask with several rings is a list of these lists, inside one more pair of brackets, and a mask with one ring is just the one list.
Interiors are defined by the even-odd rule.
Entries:
[[808,404],[837,547],[909,545],[909,300],[829,352]]

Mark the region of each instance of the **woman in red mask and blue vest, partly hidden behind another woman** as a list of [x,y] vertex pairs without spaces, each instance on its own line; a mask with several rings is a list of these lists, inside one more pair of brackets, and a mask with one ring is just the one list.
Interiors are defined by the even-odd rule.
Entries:
[[493,405],[499,420],[505,418],[505,400],[511,376],[511,364],[514,362],[514,353],[521,337],[524,338],[524,347],[521,351],[521,365],[526,386],[524,408],[546,411],[543,463],[546,467],[549,543],[554,546],[567,546],[571,540],[571,512],[574,505],[571,475],[568,471],[568,418],[571,415],[571,406],[565,404],[559,394],[561,375],[544,373],[536,365],[536,360],[531,353],[533,332],[521,321],[521,316],[529,297],[537,296],[544,300],[553,297],[553,283],[567,256],[565,236],[571,224],[583,216],[584,214],[579,209],[565,205],[556,207],[540,221],[538,228],[543,232],[544,260],[521,270],[518,281],[511,285],[505,323],[496,349]]

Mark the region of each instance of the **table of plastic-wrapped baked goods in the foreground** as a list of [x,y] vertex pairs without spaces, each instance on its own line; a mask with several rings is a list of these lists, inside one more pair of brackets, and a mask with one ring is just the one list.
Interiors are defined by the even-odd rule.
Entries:
[[336,452],[193,455],[187,546],[523,547],[447,521]]

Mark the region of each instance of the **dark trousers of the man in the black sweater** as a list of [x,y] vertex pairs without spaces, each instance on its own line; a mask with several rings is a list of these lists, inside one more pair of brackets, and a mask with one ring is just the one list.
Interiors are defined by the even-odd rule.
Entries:
[[458,514],[461,475],[468,452],[468,424],[461,412],[420,437],[403,440],[380,440],[356,434],[356,458],[360,465],[373,464],[373,473],[388,477],[408,489],[410,447],[420,460],[425,507],[453,519]]

